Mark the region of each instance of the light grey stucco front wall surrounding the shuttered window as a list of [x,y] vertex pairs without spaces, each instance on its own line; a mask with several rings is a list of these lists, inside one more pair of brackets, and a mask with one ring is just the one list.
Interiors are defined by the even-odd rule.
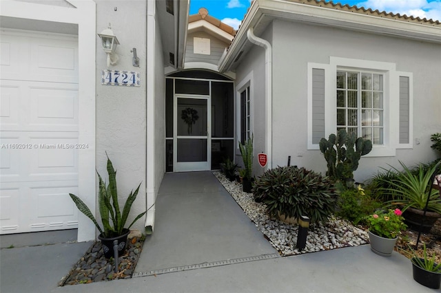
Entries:
[[273,27],[274,166],[291,155],[292,165],[326,171],[320,151],[307,149],[307,63],[329,64],[330,56],[396,63],[396,70],[413,74],[413,149],[362,158],[356,180],[388,164],[399,166],[398,160],[412,165],[436,158],[430,135],[441,131],[441,45],[285,21]]

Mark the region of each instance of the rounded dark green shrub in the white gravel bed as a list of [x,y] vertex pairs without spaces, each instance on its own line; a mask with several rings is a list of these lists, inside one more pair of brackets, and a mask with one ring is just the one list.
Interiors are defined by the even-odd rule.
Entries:
[[329,177],[296,166],[283,166],[265,172],[256,180],[256,202],[267,204],[272,217],[309,217],[311,224],[327,221],[336,207],[337,195]]

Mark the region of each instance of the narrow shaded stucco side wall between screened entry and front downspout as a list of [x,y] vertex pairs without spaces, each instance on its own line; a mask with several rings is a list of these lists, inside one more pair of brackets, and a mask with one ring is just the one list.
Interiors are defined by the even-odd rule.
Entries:
[[[272,27],[260,36],[262,39],[272,42]],[[240,66],[236,69],[236,113],[240,113],[240,90],[241,84],[246,83],[250,79],[250,99],[251,99],[251,113],[252,113],[252,133],[254,134],[254,162],[253,162],[253,174],[258,176],[263,174],[263,170],[258,166],[257,154],[266,152],[265,150],[265,50],[263,47],[254,45]],[[236,162],[243,166],[242,157],[238,149],[238,138],[240,138],[240,116],[236,116]],[[269,159],[269,154],[268,154]]]

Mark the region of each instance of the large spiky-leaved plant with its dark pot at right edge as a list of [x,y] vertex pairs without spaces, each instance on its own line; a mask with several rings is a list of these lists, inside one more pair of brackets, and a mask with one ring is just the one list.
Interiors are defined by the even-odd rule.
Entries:
[[[441,217],[441,197],[438,191],[433,188],[429,195],[431,176],[440,163],[441,160],[437,164],[429,166],[420,164],[416,169],[411,170],[400,162],[403,171],[400,172],[393,168],[394,176],[378,178],[387,186],[380,188],[380,191],[393,198],[389,204],[402,207],[406,222],[413,230],[429,232],[435,221]],[[422,215],[428,197],[427,213],[422,223]]]

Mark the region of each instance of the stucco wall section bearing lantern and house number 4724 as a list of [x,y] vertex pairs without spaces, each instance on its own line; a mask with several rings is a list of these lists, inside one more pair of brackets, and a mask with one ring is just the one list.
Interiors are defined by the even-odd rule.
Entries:
[[[96,170],[107,179],[107,152],[117,169],[120,205],[142,182],[127,224],[146,206],[146,10],[146,1],[96,1],[96,32],[111,23],[120,42],[116,47],[119,62],[109,69],[140,72],[141,78],[141,87],[101,85],[101,70],[107,68],[107,59],[96,36]],[[132,66],[130,50],[134,47],[140,67]],[[132,228],[143,231],[144,221],[139,219]]]

